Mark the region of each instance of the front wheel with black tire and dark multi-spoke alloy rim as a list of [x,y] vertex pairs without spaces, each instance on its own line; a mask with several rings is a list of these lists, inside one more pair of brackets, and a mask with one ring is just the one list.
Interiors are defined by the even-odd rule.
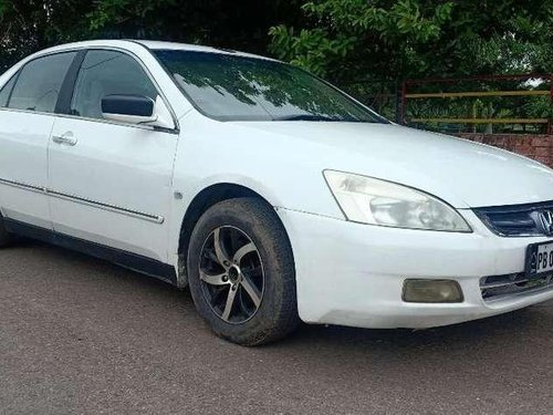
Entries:
[[228,341],[274,342],[300,322],[290,240],[273,208],[260,199],[210,207],[192,231],[187,270],[196,309]]

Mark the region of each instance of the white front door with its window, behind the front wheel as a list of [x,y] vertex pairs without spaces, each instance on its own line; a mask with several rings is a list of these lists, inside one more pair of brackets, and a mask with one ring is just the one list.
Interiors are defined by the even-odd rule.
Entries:
[[166,262],[178,134],[105,120],[102,98],[122,94],[156,101],[160,92],[135,56],[87,51],[69,114],[55,121],[49,147],[53,227]]

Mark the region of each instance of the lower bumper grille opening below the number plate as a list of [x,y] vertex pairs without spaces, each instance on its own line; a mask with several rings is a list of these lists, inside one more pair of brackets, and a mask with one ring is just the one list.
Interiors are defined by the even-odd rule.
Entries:
[[480,279],[480,291],[484,301],[500,300],[514,294],[532,293],[546,289],[553,289],[553,273],[536,277],[511,273]]

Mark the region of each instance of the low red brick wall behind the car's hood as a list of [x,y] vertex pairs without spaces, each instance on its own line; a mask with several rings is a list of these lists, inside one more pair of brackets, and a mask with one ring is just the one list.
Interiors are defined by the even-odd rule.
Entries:
[[489,144],[494,147],[519,153],[553,167],[553,135],[529,134],[456,134],[473,142]]

